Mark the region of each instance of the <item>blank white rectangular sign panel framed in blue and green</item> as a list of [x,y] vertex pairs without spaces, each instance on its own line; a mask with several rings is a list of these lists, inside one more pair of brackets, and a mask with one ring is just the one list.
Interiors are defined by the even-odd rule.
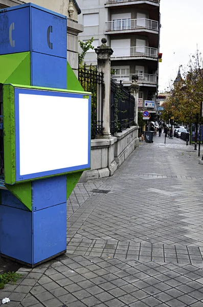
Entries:
[[88,99],[19,94],[20,176],[88,163]]

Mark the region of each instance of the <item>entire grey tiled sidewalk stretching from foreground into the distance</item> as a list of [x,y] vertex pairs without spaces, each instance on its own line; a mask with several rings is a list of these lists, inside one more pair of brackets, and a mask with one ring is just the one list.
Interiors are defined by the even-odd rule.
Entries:
[[180,139],[142,143],[67,202],[67,253],[21,268],[10,307],[203,306],[203,166]]

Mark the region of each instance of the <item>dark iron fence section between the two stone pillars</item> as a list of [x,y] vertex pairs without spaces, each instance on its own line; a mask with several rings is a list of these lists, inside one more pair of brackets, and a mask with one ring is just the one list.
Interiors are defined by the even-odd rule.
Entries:
[[[119,94],[118,94],[119,93]],[[110,133],[122,132],[134,125],[134,97],[122,84],[110,81]]]

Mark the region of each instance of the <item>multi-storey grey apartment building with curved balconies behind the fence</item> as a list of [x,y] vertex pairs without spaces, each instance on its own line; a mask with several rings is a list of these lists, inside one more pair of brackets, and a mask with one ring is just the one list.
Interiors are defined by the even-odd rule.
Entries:
[[[139,76],[139,108],[155,113],[153,103],[159,75],[160,0],[78,0],[82,14],[78,16],[84,32],[80,40],[94,37],[93,45],[101,45],[106,37],[114,53],[111,56],[112,76],[129,86],[133,74]],[[96,54],[89,50],[87,65],[96,65]]]

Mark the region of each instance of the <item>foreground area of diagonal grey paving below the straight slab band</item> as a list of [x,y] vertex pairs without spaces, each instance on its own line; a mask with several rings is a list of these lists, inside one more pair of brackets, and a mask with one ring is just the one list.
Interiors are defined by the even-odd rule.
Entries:
[[203,306],[202,267],[65,254],[20,269],[0,298],[12,307]]

